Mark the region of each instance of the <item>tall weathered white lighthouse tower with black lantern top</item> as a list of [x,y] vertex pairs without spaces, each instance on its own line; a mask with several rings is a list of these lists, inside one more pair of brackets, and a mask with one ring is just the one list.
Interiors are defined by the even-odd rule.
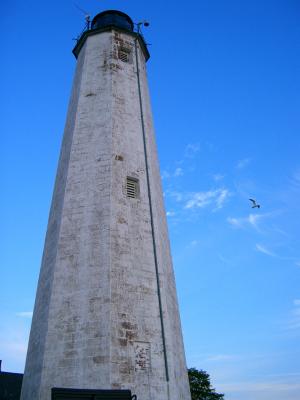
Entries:
[[133,27],[120,11],[102,12],[73,50],[22,400],[102,399],[88,390],[104,389],[190,400],[149,53]]

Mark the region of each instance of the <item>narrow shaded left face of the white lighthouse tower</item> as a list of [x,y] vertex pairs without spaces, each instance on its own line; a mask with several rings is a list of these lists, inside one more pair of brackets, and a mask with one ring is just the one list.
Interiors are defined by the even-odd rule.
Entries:
[[39,393],[44,365],[45,342],[49,323],[49,309],[52,295],[53,276],[56,268],[56,256],[64,206],[64,195],[73,133],[76,125],[76,112],[78,109],[84,57],[85,50],[83,50],[80,54],[76,67],[61,147],[27,350],[26,366],[21,393],[22,399],[40,398]]

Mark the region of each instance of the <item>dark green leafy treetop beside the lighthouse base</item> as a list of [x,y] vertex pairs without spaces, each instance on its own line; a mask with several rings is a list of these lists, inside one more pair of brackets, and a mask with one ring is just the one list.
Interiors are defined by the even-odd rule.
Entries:
[[211,386],[210,377],[207,372],[188,369],[192,400],[224,400],[224,394],[216,393]]

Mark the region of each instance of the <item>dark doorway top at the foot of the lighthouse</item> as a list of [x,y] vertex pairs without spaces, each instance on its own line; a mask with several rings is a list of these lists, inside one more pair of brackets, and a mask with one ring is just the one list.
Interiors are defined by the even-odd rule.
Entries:
[[53,388],[51,400],[133,400],[130,390]]

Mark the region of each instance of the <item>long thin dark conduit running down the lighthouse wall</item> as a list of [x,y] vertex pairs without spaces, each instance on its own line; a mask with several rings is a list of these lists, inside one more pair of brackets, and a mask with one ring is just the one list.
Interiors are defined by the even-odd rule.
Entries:
[[165,339],[165,328],[164,328],[164,320],[163,320],[163,312],[162,312],[162,304],[161,304],[160,283],[159,283],[159,274],[158,274],[158,261],[157,261],[157,253],[156,253],[154,223],[153,223],[152,198],[151,198],[151,191],[150,191],[150,179],[149,179],[149,169],[148,169],[148,155],[147,155],[147,145],[146,145],[145,123],[144,123],[144,113],[143,113],[143,103],[142,103],[142,93],[141,93],[141,83],[140,83],[140,71],[139,71],[138,48],[137,48],[138,35],[139,35],[139,33],[137,33],[137,36],[134,41],[135,42],[136,74],[137,74],[137,83],[138,83],[138,92],[139,92],[139,101],[140,101],[142,132],[143,132],[143,144],[144,144],[148,199],[149,199],[149,208],[150,208],[150,221],[151,221],[151,231],[152,231],[154,264],[155,264],[156,283],[157,283],[157,295],[158,295],[158,304],[159,304],[159,316],[160,316],[161,334],[162,334],[162,342],[163,342],[166,381],[169,382],[169,369],[168,369],[168,359],[167,359],[167,349],[166,349],[166,339]]

